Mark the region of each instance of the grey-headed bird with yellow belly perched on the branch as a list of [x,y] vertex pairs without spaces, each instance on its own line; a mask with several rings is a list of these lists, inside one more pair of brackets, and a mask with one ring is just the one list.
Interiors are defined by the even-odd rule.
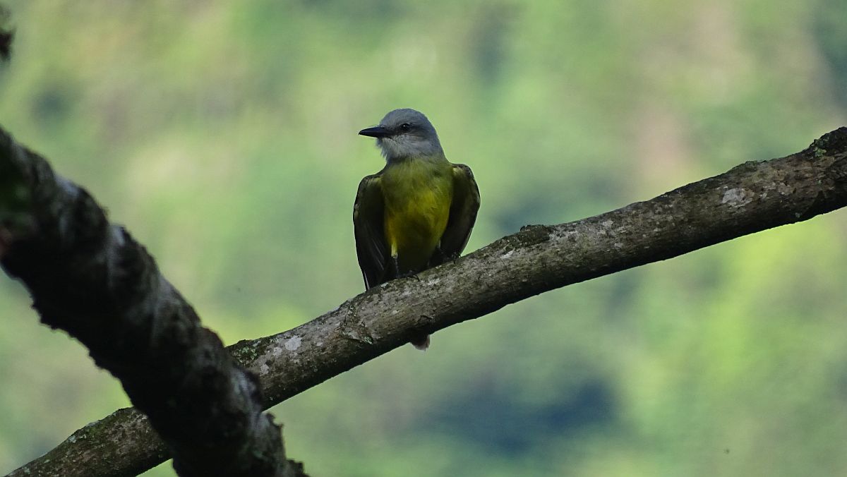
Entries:
[[[376,138],[385,167],[359,183],[353,231],[365,290],[459,257],[479,211],[479,187],[465,164],[447,160],[438,134],[419,111],[390,111],[360,130]],[[416,333],[412,345],[429,347]]]

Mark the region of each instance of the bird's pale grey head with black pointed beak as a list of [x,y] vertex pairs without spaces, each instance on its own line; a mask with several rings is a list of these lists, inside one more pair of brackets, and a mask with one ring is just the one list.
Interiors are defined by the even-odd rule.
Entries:
[[444,157],[438,135],[429,119],[414,109],[395,109],[378,126],[359,131],[376,138],[376,144],[388,161],[405,158]]

